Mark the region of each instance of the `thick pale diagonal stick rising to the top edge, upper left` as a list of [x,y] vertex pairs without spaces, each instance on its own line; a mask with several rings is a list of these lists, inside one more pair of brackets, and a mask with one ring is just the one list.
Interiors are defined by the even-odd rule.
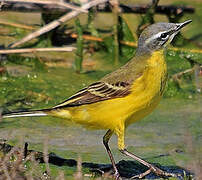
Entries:
[[[90,2],[88,2],[86,4],[84,4],[81,8],[87,10],[87,9],[93,7],[93,6],[97,6],[98,4],[105,3],[107,1],[108,0],[94,0],[94,1],[90,1]],[[52,21],[51,23],[45,25],[44,27],[40,28],[39,30],[37,30],[37,31],[35,31],[35,32],[31,33],[31,34],[28,34],[27,36],[25,36],[21,40],[13,43],[10,46],[10,48],[17,47],[17,46],[19,46],[21,44],[24,44],[27,41],[30,41],[33,38],[36,38],[36,37],[38,37],[38,36],[40,36],[40,35],[42,35],[44,33],[47,33],[50,30],[52,30],[52,29],[56,28],[57,26],[61,25],[62,23],[64,23],[64,22],[66,22],[66,21],[68,21],[68,20],[70,20],[70,19],[78,16],[80,13],[81,13],[80,11],[69,12],[69,13],[63,15],[62,17],[60,17],[59,19]]]

